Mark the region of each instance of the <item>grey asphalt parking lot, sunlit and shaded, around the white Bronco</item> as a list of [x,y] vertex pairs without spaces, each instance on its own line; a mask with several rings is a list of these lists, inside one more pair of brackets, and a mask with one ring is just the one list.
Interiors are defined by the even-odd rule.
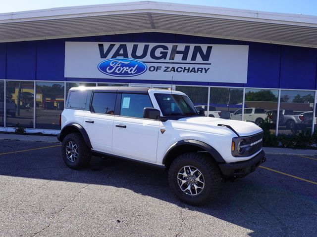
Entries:
[[0,143],[1,237],[317,233],[316,157],[267,155],[263,167],[193,207],[170,194],[161,169],[93,158],[71,170],[58,143]]

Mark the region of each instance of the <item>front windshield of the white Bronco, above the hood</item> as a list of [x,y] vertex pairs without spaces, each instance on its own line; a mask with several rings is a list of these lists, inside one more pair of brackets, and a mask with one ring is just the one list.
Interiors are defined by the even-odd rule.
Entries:
[[195,106],[185,95],[155,94],[163,116],[198,115]]

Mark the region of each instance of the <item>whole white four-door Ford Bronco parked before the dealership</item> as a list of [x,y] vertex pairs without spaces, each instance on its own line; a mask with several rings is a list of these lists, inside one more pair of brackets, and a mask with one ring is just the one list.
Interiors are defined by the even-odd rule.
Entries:
[[243,177],[265,161],[259,126],[205,117],[180,91],[73,87],[61,128],[57,138],[70,168],[86,167],[92,155],[168,168],[170,189],[191,205],[214,197],[221,180]]

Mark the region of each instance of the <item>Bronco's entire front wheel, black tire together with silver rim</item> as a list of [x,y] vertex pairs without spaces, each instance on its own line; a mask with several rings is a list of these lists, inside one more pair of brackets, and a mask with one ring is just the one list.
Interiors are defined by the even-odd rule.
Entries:
[[221,174],[212,158],[202,153],[185,153],[169,167],[168,181],[172,192],[190,205],[203,205],[215,197]]

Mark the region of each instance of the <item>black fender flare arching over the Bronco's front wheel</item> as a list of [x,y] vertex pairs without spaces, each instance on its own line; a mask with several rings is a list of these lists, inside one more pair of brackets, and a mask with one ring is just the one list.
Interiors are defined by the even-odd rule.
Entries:
[[221,155],[217,152],[216,149],[211,147],[205,142],[201,142],[198,140],[192,140],[192,139],[186,139],[186,140],[181,140],[170,146],[165,153],[165,156],[162,160],[162,163],[165,164],[165,161],[168,157],[168,154],[170,151],[172,151],[175,147],[182,146],[182,145],[194,145],[196,147],[202,148],[203,150],[207,151],[218,163],[225,163],[225,160],[221,157]]

